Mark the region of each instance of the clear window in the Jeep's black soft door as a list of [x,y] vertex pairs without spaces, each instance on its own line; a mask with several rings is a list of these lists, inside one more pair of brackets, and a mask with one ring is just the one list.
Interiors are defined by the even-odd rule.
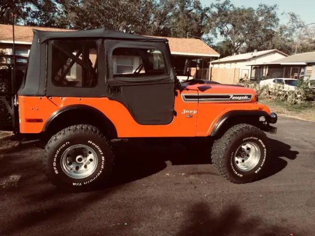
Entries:
[[166,74],[163,55],[156,49],[116,48],[112,62],[114,78]]

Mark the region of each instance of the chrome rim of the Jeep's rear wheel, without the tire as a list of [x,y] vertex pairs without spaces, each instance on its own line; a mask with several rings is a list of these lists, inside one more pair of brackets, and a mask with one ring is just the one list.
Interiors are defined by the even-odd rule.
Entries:
[[61,168],[68,177],[85,178],[92,175],[97,167],[96,152],[86,145],[67,148],[61,157]]

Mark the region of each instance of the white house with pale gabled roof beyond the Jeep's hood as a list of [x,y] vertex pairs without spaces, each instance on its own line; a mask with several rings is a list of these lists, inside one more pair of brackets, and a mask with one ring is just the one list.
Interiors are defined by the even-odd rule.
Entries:
[[[245,53],[239,55],[233,55],[225,58],[221,58],[218,60],[214,60],[211,62],[213,68],[222,68],[222,69],[236,69],[232,70],[234,73],[234,77],[238,80],[242,79],[258,79],[257,74],[260,74],[260,67],[255,68],[255,70],[251,70],[251,66],[249,64],[253,63],[266,63],[277,59],[284,59],[288,55],[277,50],[265,50],[259,52]],[[217,71],[221,72],[221,69]],[[228,70],[227,70],[228,71]],[[220,73],[222,75],[222,73]],[[218,78],[220,79],[220,78]]]

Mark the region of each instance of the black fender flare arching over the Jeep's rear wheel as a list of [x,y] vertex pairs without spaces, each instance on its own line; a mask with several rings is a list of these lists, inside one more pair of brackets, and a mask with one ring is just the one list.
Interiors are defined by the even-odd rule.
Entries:
[[[103,114],[101,111],[99,111],[98,109],[88,106],[88,105],[84,105],[84,104],[76,104],[76,105],[68,105],[65,106],[57,111],[55,111],[52,115],[50,115],[50,117],[46,120],[44,126],[43,126],[43,132],[48,130],[49,125],[53,122],[53,120],[55,120],[56,118],[60,117],[63,113],[68,112],[68,111],[74,111],[74,110],[84,110],[89,112],[90,114],[95,114],[95,116],[98,116],[102,119],[104,119],[104,124],[110,124],[112,126],[112,128],[115,128],[114,124],[111,122],[111,120],[109,118],[107,118],[105,116],[105,114]],[[115,129],[116,130],[116,129]]]

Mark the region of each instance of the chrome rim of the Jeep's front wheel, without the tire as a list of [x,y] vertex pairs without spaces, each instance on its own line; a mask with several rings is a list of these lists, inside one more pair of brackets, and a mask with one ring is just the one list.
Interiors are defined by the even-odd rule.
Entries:
[[253,142],[246,142],[237,148],[234,155],[235,166],[241,171],[250,171],[260,159],[260,149]]

